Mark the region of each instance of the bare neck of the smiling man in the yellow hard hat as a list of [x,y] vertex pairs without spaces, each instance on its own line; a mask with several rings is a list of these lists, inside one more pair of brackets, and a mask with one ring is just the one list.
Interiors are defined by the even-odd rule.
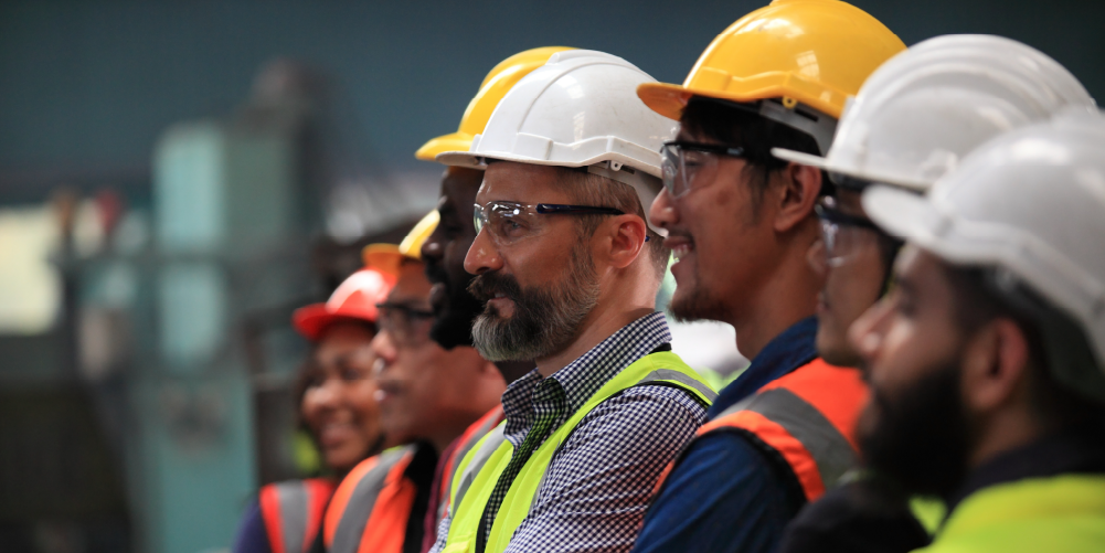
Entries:
[[775,271],[748,294],[751,301],[730,310],[725,322],[737,333],[737,349],[751,359],[776,336],[817,310],[821,279],[806,261],[809,243],[801,241],[778,263]]

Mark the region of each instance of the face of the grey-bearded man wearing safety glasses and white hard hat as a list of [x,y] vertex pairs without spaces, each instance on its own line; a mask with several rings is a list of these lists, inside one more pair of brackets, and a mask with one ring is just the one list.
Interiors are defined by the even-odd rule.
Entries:
[[[476,204],[572,204],[558,182],[566,169],[498,161],[484,174]],[[530,215],[492,221],[472,243],[464,268],[471,290],[486,301],[476,319],[476,347],[491,361],[536,359],[573,341],[598,302],[591,240],[578,219]]]

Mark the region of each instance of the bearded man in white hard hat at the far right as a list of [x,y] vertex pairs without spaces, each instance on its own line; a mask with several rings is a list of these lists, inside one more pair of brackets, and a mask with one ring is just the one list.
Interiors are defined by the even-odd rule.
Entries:
[[950,514],[928,552],[1105,543],[1105,121],[979,147],[927,197],[863,207],[907,247],[851,328],[864,458]]

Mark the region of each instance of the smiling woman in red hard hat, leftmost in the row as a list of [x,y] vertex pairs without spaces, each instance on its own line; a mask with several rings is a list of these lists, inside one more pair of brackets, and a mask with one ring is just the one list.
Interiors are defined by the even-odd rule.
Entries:
[[297,380],[299,421],[315,441],[326,477],[261,488],[234,542],[235,553],[302,553],[318,534],[336,483],[386,445],[372,367],[377,303],[393,275],[365,269],[346,279],[326,303],[295,311],[296,331],[313,343]]

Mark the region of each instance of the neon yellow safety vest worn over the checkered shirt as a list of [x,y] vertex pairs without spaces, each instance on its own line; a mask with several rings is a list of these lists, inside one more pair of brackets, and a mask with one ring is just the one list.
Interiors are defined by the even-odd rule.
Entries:
[[[602,401],[627,388],[642,385],[677,387],[706,406],[716,397],[714,390],[698,377],[697,373],[671,352],[645,355],[622,369],[554,430],[522,467],[507,490],[492,530],[487,534],[487,553],[501,553],[506,550],[515,530],[529,514],[552,456],[571,436],[580,420]],[[662,425],[663,421],[657,420],[655,424]],[[452,507],[450,507],[453,519],[443,550],[445,553],[467,552],[475,547],[476,532],[484,508],[514,452],[514,446],[503,437],[504,428],[505,422],[480,440],[457,468],[457,478],[453,482]]]

